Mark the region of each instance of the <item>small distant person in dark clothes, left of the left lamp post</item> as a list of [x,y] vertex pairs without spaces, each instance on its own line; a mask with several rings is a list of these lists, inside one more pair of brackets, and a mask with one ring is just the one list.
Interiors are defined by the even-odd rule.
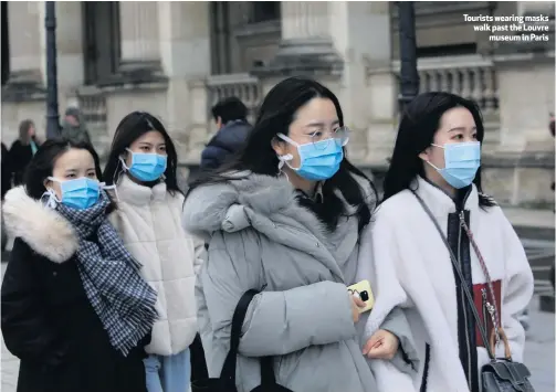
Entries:
[[19,138],[13,141],[8,152],[8,162],[14,187],[23,181],[27,166],[35,155],[39,146],[33,120],[24,119],[19,125]]

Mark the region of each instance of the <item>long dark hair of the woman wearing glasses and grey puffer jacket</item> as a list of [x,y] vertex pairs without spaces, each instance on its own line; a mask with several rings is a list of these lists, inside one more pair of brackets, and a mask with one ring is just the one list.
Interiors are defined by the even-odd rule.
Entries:
[[[253,130],[243,149],[224,167],[201,173],[201,177],[191,183],[189,192],[201,184],[225,181],[224,172],[228,171],[248,170],[258,174],[277,177],[280,173],[279,159],[272,148],[272,141],[276,134],[287,135],[296,112],[316,97],[332,100],[336,107],[339,125],[343,126],[344,114],[338,98],[328,88],[305,77],[286,78],[276,84],[264,97]],[[373,193],[370,200],[366,199],[365,191],[353,174],[368,183]],[[369,223],[371,208],[374,208],[369,204],[376,201],[375,187],[347,158],[342,161],[338,172],[324,182],[323,203],[314,203],[307,198],[298,200],[302,205],[312,210],[329,231],[334,231],[339,218],[347,214],[346,206],[335,194],[335,190],[338,190],[350,205],[357,208],[355,214],[359,220],[359,230]]]

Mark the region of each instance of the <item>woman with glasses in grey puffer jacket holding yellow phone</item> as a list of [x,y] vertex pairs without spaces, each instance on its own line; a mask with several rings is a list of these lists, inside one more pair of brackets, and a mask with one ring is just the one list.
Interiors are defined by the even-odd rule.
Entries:
[[[346,142],[334,94],[289,78],[265,97],[235,162],[188,193],[183,225],[209,243],[196,297],[211,377],[220,375],[230,348],[238,300],[249,289],[261,292],[243,324],[240,392],[260,384],[259,358],[267,356],[276,382],[292,391],[379,390],[361,352],[369,337],[359,333],[357,300],[346,288],[357,279],[360,233],[376,193],[344,158]],[[381,341],[368,352],[373,360],[411,371],[416,351],[399,308],[373,339]]]

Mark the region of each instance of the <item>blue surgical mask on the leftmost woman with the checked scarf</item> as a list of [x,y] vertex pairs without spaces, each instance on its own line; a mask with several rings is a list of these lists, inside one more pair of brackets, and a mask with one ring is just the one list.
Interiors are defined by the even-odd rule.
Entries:
[[62,190],[61,200],[57,200],[54,190],[49,189],[48,191],[51,198],[54,198],[59,203],[76,210],[86,210],[98,201],[101,184],[97,180],[86,177],[65,181],[49,177],[49,180],[60,183],[60,189]]

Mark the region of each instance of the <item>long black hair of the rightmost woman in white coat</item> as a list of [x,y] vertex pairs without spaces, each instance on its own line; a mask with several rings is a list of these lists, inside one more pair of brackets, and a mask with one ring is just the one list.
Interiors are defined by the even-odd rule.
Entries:
[[[464,107],[471,112],[476,125],[476,138],[483,142],[483,119],[481,110],[474,102],[450,93],[418,95],[406,107],[401,116],[390,167],[384,182],[382,201],[405,189],[410,189],[411,182],[417,176],[424,178],[423,161],[419,155],[432,144],[442,115],[454,107]],[[479,204],[484,208],[494,205],[491,198],[481,193],[481,168],[479,168],[473,183],[480,192]]]

